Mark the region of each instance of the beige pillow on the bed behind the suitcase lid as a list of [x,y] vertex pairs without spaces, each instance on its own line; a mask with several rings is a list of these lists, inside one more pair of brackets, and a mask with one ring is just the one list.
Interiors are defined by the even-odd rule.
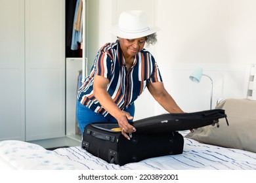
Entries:
[[219,128],[217,125],[200,127],[186,137],[205,144],[256,152],[256,101],[226,99],[216,108],[225,110],[229,126],[222,118]]

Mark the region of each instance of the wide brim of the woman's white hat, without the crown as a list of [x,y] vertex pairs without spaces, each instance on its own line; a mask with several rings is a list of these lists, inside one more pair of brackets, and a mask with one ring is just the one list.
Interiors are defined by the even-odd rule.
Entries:
[[123,39],[137,39],[140,37],[146,37],[147,35],[151,35],[153,33],[156,33],[157,31],[160,31],[159,27],[149,27],[148,30],[141,33],[125,33],[123,31],[120,31],[117,25],[112,27],[112,34]]

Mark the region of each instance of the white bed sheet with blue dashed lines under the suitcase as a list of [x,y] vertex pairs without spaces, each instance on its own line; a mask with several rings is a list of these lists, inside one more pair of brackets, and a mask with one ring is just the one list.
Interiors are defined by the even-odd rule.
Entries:
[[202,144],[184,138],[184,152],[179,155],[144,159],[123,166],[96,158],[79,146],[46,150],[22,141],[0,142],[0,169],[30,170],[255,170],[256,154],[245,150]]

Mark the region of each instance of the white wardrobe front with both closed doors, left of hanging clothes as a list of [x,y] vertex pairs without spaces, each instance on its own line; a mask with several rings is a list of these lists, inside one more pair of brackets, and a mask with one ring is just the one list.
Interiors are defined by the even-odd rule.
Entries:
[[0,141],[65,135],[65,1],[0,1]]

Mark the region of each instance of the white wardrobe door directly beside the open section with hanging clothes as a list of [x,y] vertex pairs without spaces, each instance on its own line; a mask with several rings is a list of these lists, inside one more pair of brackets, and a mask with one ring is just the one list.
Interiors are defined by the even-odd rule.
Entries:
[[26,141],[65,135],[65,1],[25,0]]

